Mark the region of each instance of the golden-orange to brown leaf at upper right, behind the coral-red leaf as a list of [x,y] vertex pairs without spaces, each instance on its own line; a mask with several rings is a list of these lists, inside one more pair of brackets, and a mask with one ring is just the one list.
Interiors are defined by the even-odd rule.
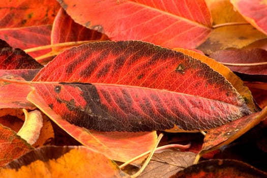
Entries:
[[[211,10],[214,29],[198,49],[205,54],[227,48],[242,48],[266,35],[250,25],[229,1],[206,1]],[[246,24],[247,23],[247,24]]]

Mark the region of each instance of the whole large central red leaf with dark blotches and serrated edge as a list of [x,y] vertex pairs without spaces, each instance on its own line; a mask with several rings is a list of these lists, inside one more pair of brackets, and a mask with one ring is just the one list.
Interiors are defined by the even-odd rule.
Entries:
[[164,130],[174,124],[203,130],[250,113],[232,85],[209,66],[139,41],[66,50],[33,81],[65,120],[100,131]]

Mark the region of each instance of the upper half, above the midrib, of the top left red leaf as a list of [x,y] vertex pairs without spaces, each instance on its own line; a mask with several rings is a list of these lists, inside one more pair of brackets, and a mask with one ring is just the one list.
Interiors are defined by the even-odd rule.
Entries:
[[55,1],[2,0],[0,28],[52,24],[57,10]]

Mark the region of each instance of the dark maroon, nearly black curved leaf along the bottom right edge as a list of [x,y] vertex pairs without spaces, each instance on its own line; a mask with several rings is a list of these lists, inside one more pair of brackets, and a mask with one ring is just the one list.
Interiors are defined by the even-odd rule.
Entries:
[[207,160],[189,166],[170,176],[179,177],[267,177],[267,174],[241,161],[236,160]]

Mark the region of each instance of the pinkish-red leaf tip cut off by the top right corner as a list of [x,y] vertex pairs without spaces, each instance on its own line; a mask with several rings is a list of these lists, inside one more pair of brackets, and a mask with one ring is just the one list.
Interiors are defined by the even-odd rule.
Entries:
[[231,0],[234,8],[255,28],[267,35],[267,3],[263,0]]

